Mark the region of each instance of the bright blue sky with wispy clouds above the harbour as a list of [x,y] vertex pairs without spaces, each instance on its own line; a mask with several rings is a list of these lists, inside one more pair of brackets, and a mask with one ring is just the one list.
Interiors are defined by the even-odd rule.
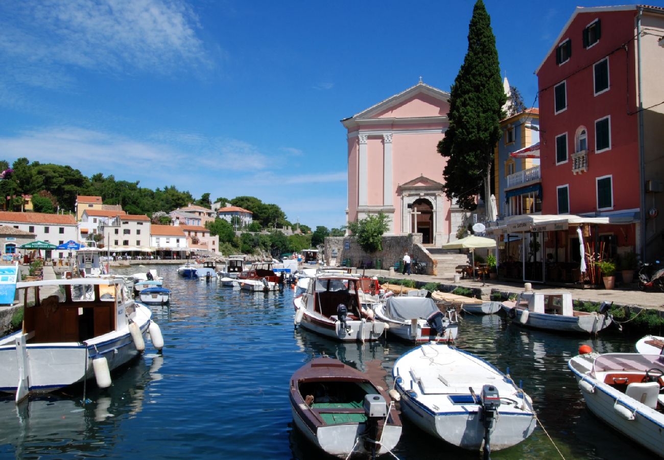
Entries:
[[[533,72],[577,4],[485,1],[503,74],[528,106]],[[252,195],[293,222],[339,227],[339,120],[420,76],[449,91],[473,5],[2,1],[0,159],[69,164],[195,197]],[[598,5],[608,3],[582,4]]]

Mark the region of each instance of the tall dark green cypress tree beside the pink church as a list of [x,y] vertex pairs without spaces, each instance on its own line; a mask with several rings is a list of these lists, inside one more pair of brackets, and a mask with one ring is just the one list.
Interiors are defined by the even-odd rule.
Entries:
[[478,192],[485,203],[491,196],[493,149],[501,136],[506,100],[491,18],[483,1],[477,0],[468,27],[468,51],[450,91],[450,127],[438,143],[438,153],[448,158],[445,194],[465,209],[477,207]]

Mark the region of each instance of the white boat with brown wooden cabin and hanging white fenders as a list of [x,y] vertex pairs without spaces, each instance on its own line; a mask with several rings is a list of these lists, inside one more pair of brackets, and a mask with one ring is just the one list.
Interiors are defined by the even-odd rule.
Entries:
[[145,349],[149,331],[161,350],[159,326],[135,304],[122,279],[75,278],[17,283],[23,329],[0,339],[0,391],[46,393],[110,372]]

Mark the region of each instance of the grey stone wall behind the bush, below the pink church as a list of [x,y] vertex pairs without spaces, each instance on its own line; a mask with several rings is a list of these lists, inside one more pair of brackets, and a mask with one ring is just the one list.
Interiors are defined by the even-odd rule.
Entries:
[[374,254],[365,253],[353,237],[326,237],[323,251],[325,265],[339,266],[343,265],[345,259],[351,259],[351,267],[360,267],[364,262],[371,261],[372,267],[375,268],[376,260],[380,260],[381,268],[384,270],[401,262],[404,253],[408,251],[412,259],[427,263],[428,274],[432,274],[434,271],[434,261],[422,246],[422,233],[384,236],[382,237],[382,251]]

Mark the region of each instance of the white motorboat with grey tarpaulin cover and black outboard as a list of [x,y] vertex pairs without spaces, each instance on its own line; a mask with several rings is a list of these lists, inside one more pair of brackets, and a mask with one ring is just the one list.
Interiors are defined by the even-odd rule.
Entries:
[[372,305],[377,320],[388,325],[387,333],[408,342],[454,342],[459,324],[452,321],[454,310],[440,311],[432,298],[392,296]]

